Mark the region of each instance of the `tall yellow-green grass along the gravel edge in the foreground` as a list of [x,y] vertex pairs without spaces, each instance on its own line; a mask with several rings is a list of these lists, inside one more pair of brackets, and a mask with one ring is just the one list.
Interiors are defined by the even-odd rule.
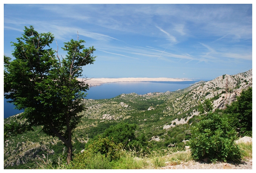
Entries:
[[[252,159],[252,143],[239,143],[238,145],[242,151],[242,160]],[[120,152],[121,157],[111,162],[100,154],[88,158],[91,162],[87,169],[160,169],[164,166],[175,166],[192,160],[190,150],[178,147],[148,153],[143,153],[142,149],[136,148],[122,149]],[[61,158],[58,159],[55,166],[47,158],[38,158],[35,163],[37,164],[35,169],[73,169]]]

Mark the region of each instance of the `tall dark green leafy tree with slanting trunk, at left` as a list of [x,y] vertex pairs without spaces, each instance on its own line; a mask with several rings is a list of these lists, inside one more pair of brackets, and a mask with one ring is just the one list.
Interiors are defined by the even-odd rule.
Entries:
[[67,55],[61,59],[58,49],[50,48],[53,34],[25,27],[18,42],[12,42],[15,59],[4,56],[5,98],[10,98],[16,109],[24,109],[20,118],[27,129],[43,126],[46,134],[64,142],[68,164],[72,160],[72,130],[81,119],[78,113],[85,109],[83,98],[88,89],[86,78],[76,78],[82,76],[83,66],[95,61],[93,46],[85,48],[84,40],[78,38],[64,43]]

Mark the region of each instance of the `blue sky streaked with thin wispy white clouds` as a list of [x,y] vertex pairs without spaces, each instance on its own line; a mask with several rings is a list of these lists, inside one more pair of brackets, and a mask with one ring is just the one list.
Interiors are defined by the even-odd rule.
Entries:
[[211,80],[252,68],[252,4],[5,4],[5,55],[30,25],[59,48],[77,32],[94,46],[88,78]]

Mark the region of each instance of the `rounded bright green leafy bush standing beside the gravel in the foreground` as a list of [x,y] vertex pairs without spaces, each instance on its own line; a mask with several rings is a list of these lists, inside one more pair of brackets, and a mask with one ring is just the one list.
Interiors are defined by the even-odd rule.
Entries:
[[234,140],[236,131],[229,119],[210,113],[191,130],[189,146],[195,160],[209,158],[210,161],[239,161],[241,152]]

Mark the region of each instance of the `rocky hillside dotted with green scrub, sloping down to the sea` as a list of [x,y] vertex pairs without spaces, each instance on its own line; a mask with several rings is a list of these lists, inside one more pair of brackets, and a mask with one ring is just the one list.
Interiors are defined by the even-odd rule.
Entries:
[[[110,125],[130,122],[155,146],[183,145],[189,137],[189,125],[198,115],[197,106],[211,98],[215,109],[232,103],[243,89],[252,87],[252,69],[237,75],[222,75],[212,81],[200,81],[174,92],[144,95],[121,94],[111,99],[85,99],[87,109],[81,112],[81,123],[73,131],[74,153],[79,153],[88,139],[101,134]],[[5,119],[5,123],[14,116]],[[36,127],[4,143],[4,167],[27,164],[36,157],[57,159],[65,151],[56,137],[49,137]],[[177,133],[176,133],[176,132]],[[20,168],[20,167],[18,167]]]

